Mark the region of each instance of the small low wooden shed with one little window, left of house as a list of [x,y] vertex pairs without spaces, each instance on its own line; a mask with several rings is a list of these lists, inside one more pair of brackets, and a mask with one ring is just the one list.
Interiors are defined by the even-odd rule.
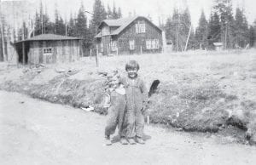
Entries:
[[[81,39],[55,34],[42,34],[15,43],[19,62],[50,64],[73,62],[82,55]],[[23,57],[24,55],[24,57]]]

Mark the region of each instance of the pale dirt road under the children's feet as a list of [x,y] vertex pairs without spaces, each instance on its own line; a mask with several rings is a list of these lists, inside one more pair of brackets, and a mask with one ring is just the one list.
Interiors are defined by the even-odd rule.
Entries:
[[0,91],[0,162],[256,164],[255,147],[153,126],[145,127],[146,145],[106,146],[105,122],[106,117],[95,113]]

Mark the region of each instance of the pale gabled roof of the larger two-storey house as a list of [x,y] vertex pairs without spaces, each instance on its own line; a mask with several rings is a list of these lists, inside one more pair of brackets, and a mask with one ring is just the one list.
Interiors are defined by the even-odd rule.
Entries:
[[[129,18],[125,18],[125,19],[117,19],[117,20],[103,20],[101,25],[99,26],[99,28],[102,28],[102,26],[104,24],[107,24],[108,26],[112,26],[112,27],[116,27],[118,26],[119,28],[117,28],[116,30],[111,32],[111,36],[112,35],[119,35],[120,32],[124,31],[125,28],[129,25],[131,25],[131,23],[137,19],[143,19],[143,20],[147,20],[152,26],[154,26],[156,29],[158,29],[159,31],[160,28],[158,26],[155,26],[150,20],[148,20],[145,17],[142,16],[135,16],[135,17],[129,17]],[[96,37],[102,37],[102,32],[99,32]]]

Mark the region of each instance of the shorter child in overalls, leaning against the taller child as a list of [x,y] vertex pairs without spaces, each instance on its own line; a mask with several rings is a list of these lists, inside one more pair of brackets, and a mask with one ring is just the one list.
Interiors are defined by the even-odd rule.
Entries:
[[122,145],[127,145],[126,129],[125,129],[125,88],[119,82],[118,77],[113,77],[111,82],[112,90],[110,91],[110,107],[108,108],[108,120],[105,128],[106,145],[112,145],[110,135],[114,134],[116,127],[119,128],[120,142]]

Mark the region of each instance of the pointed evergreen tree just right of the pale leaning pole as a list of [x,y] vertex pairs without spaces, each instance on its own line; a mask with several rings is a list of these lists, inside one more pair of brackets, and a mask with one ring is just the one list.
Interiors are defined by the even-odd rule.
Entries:
[[204,11],[201,11],[199,26],[195,30],[196,48],[207,48],[207,28],[208,23]]

